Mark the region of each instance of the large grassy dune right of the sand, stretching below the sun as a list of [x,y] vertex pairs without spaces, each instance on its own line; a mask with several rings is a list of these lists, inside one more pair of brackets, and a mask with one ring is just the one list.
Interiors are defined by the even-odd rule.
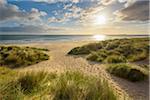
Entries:
[[114,39],[76,47],[71,55],[86,54],[87,60],[103,63],[124,63],[148,59],[149,38]]

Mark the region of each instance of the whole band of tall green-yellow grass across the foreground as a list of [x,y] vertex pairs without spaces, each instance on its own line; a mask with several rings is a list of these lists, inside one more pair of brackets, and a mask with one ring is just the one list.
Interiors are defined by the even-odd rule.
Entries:
[[[17,72],[4,69],[0,69],[1,100],[117,100],[106,80],[80,72],[56,74],[42,71],[9,76]],[[1,77],[4,71],[6,77],[13,77],[10,81]]]

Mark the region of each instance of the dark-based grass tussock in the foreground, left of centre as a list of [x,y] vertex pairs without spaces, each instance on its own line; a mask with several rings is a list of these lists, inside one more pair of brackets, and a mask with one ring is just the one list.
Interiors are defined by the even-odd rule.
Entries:
[[17,83],[20,85],[24,94],[30,94],[42,89],[42,85],[47,82],[48,74],[46,72],[30,72],[21,76]]

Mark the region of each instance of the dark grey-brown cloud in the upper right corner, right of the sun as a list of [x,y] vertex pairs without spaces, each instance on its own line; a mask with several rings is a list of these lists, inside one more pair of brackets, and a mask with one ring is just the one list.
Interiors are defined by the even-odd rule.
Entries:
[[136,1],[135,3],[115,12],[118,19],[131,21],[149,20],[149,1]]

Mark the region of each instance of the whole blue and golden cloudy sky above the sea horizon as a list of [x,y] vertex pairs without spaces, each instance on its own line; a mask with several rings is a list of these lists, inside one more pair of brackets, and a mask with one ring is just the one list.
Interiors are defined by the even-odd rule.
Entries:
[[148,0],[0,0],[0,34],[148,34]]

